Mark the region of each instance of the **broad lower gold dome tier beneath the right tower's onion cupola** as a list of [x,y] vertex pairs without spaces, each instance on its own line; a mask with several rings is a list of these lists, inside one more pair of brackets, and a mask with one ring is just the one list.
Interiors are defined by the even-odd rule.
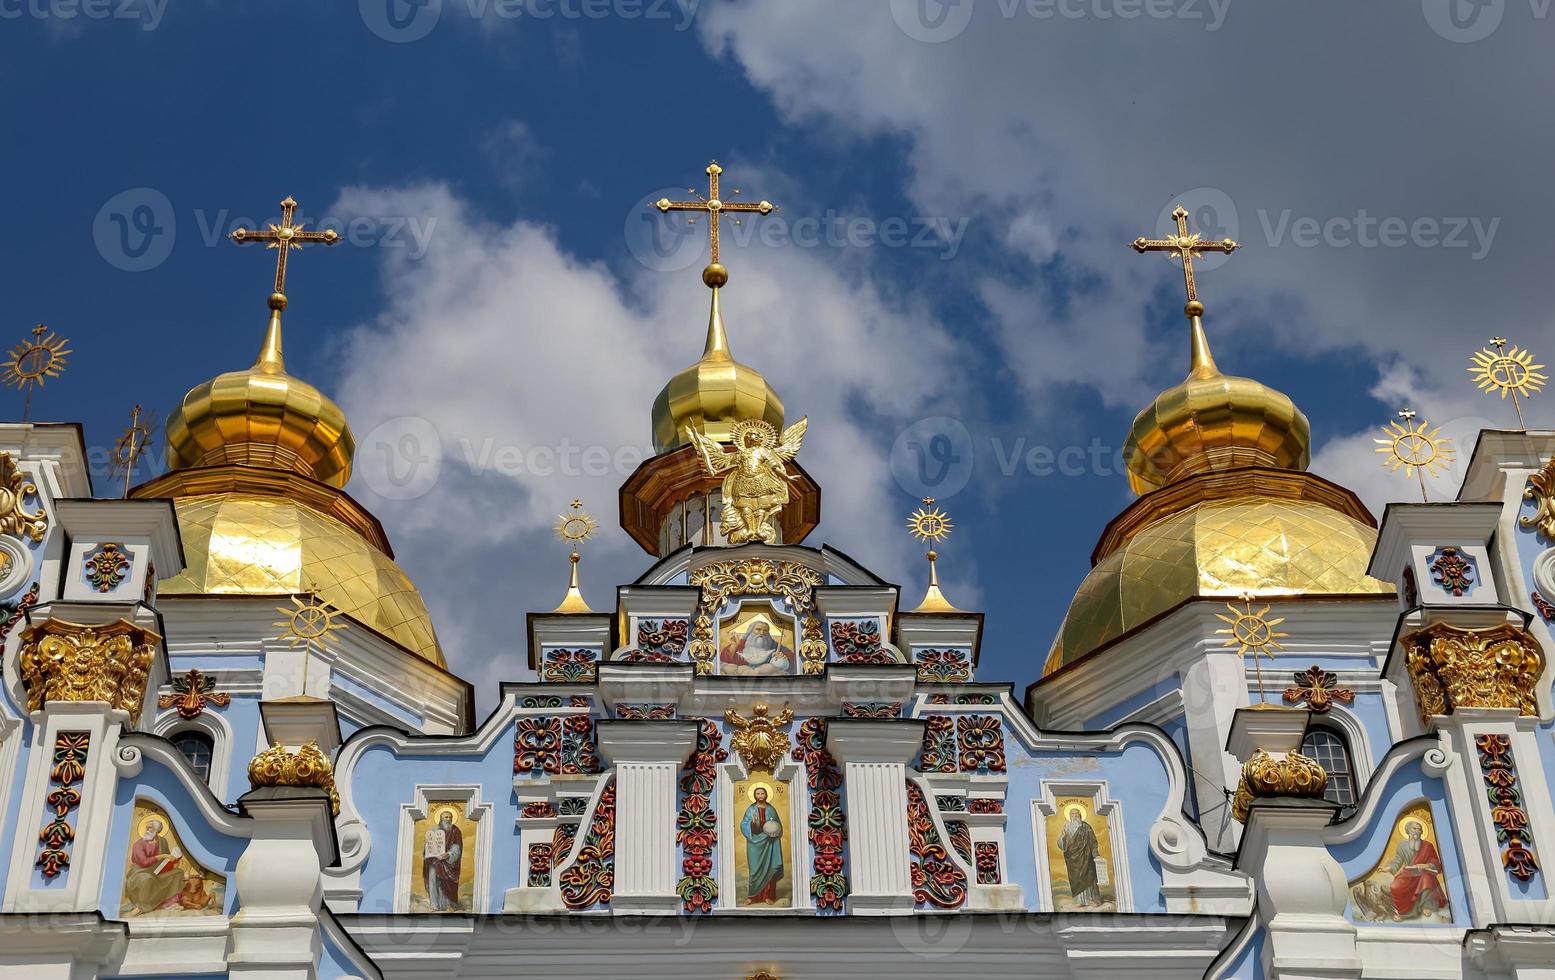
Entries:
[[1102,537],[1045,674],[1202,596],[1378,596],[1376,529],[1354,495],[1308,473],[1249,468],[1140,498]]

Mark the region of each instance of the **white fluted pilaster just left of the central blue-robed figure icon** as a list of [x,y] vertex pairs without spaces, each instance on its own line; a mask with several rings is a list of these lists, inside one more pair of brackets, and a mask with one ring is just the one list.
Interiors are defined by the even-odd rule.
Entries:
[[610,908],[625,915],[675,913],[676,778],[697,747],[697,723],[602,720],[596,734],[600,754],[616,767],[616,885]]

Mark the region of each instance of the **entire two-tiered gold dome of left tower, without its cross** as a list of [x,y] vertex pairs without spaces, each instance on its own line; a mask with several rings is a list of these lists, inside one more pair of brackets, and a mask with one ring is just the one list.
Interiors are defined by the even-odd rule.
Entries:
[[174,498],[187,568],[163,596],[316,593],[417,656],[446,666],[426,602],[383,526],[345,495],[345,414],[286,373],[281,311],[247,370],[196,386],[166,423],[169,473],[134,496]]

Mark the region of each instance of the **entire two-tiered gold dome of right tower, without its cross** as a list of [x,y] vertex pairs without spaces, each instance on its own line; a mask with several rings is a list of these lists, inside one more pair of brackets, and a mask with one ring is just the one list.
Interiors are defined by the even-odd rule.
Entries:
[[1222,375],[1190,303],[1188,378],[1134,420],[1140,493],[1107,526],[1045,674],[1197,597],[1372,596],[1376,523],[1354,493],[1306,473],[1311,426],[1291,398]]

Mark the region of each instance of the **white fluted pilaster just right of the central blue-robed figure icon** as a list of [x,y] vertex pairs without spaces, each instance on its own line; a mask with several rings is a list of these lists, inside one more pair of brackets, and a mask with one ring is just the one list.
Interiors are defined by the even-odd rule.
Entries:
[[907,764],[924,742],[924,722],[830,719],[826,750],[843,765],[852,840],[854,915],[911,915],[913,873],[907,828]]

